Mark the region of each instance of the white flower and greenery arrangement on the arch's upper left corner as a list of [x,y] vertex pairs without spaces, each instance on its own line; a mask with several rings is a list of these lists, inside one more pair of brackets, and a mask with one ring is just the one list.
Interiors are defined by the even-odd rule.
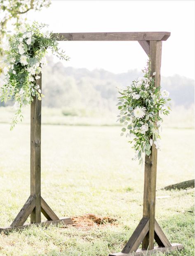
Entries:
[[60,59],[69,57],[60,51],[56,36],[46,31],[48,25],[33,22],[19,27],[14,35],[9,36],[9,45],[6,51],[6,65],[3,68],[5,79],[2,85],[1,101],[13,99],[13,108],[16,110],[12,119],[11,130],[22,120],[22,106],[31,104],[34,97],[39,100],[44,97],[36,84],[38,75],[47,64],[47,49]]

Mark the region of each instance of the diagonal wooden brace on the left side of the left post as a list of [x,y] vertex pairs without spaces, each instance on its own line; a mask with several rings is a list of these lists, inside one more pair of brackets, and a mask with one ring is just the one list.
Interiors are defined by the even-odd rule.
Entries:
[[23,225],[34,208],[35,208],[35,196],[29,196],[28,200],[23,205],[20,212],[15,217],[14,221],[10,226],[15,227],[15,226]]

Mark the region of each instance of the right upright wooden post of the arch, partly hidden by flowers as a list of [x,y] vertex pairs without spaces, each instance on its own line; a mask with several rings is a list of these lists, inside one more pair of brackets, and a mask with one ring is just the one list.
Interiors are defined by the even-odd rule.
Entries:
[[[160,86],[160,66],[162,54],[162,41],[150,41],[151,74],[156,72],[155,87]],[[154,248],[155,229],[155,196],[157,174],[157,149],[153,144],[150,156],[145,157],[143,217],[150,219],[149,232],[142,242],[142,249]]]

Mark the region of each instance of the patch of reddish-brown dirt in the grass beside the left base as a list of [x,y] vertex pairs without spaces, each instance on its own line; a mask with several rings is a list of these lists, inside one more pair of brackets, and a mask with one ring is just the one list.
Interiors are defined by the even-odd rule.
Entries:
[[73,227],[83,228],[83,229],[90,229],[92,227],[97,227],[100,225],[116,225],[116,219],[110,217],[101,217],[91,213],[82,215],[82,216],[75,216],[71,217],[74,224]]

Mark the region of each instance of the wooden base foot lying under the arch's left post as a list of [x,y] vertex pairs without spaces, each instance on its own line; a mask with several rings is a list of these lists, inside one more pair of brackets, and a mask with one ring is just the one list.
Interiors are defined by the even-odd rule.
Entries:
[[25,225],[22,225],[22,226],[17,226],[17,227],[0,227],[0,233],[1,232],[10,232],[12,230],[19,230],[19,229],[25,229],[25,228],[29,228],[31,227],[32,225],[35,225],[35,226],[42,226],[42,227],[47,227],[51,224],[56,224],[57,226],[59,225],[71,225],[73,224],[73,220],[71,220],[70,218],[61,218],[59,220],[46,220],[46,221],[42,221],[40,223],[32,223],[32,224],[25,224]]

